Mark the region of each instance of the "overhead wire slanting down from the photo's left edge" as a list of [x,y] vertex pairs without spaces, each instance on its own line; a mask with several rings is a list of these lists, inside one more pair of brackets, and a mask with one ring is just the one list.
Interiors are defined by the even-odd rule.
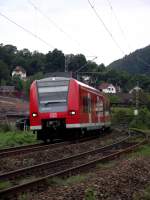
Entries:
[[29,29],[24,28],[22,25],[16,23],[14,20],[10,19],[9,17],[7,17],[6,15],[4,15],[3,13],[0,12],[0,16],[2,16],[3,18],[7,19],[9,22],[11,22],[12,24],[16,25],[17,27],[19,27],[20,29],[22,29],[24,32],[28,33],[29,35],[35,37],[36,39],[40,40],[42,43],[44,43],[45,45],[49,46],[50,48],[54,48],[54,46],[50,43],[48,43],[47,41],[45,41],[43,38],[41,38],[40,36],[32,33]]

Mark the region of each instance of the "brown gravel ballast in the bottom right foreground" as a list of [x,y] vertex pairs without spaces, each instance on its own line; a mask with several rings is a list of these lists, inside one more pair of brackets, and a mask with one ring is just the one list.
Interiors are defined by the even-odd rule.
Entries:
[[150,183],[150,158],[137,158],[122,161],[109,169],[97,168],[80,183],[58,186],[36,195],[38,200],[81,200],[90,188],[95,199],[134,200],[135,195]]

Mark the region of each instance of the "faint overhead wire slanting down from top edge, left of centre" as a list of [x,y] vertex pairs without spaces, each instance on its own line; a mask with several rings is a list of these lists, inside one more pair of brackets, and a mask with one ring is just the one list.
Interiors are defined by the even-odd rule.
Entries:
[[[36,9],[45,19],[48,20],[49,23],[51,23],[56,29],[58,29],[61,33],[63,33],[69,40],[72,40],[78,47],[82,48],[84,51],[86,50],[80,43],[78,40],[74,39],[69,33],[67,33],[60,25],[58,25],[51,17],[49,17],[47,14],[45,14],[45,12],[43,12],[39,6],[36,5],[35,2],[28,0],[28,3],[34,8]],[[91,55],[93,54],[93,52],[91,52],[90,50],[86,50],[87,52],[89,52]],[[92,57],[95,57],[95,55],[93,54]]]

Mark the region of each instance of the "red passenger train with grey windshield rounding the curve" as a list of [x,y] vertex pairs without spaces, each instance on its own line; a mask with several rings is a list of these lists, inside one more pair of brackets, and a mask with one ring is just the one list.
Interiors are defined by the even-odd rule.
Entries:
[[30,129],[37,139],[84,134],[110,127],[109,101],[99,90],[73,78],[50,77],[30,88]]

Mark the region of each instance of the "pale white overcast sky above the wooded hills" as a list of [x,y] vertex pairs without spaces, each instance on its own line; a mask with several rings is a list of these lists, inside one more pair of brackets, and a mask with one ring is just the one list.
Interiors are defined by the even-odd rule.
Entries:
[[95,62],[105,65],[150,44],[150,0],[90,2],[93,9],[88,0],[0,0],[0,14],[48,44],[1,15],[0,43],[43,53],[57,48],[65,54],[82,53],[88,60],[97,56]]

